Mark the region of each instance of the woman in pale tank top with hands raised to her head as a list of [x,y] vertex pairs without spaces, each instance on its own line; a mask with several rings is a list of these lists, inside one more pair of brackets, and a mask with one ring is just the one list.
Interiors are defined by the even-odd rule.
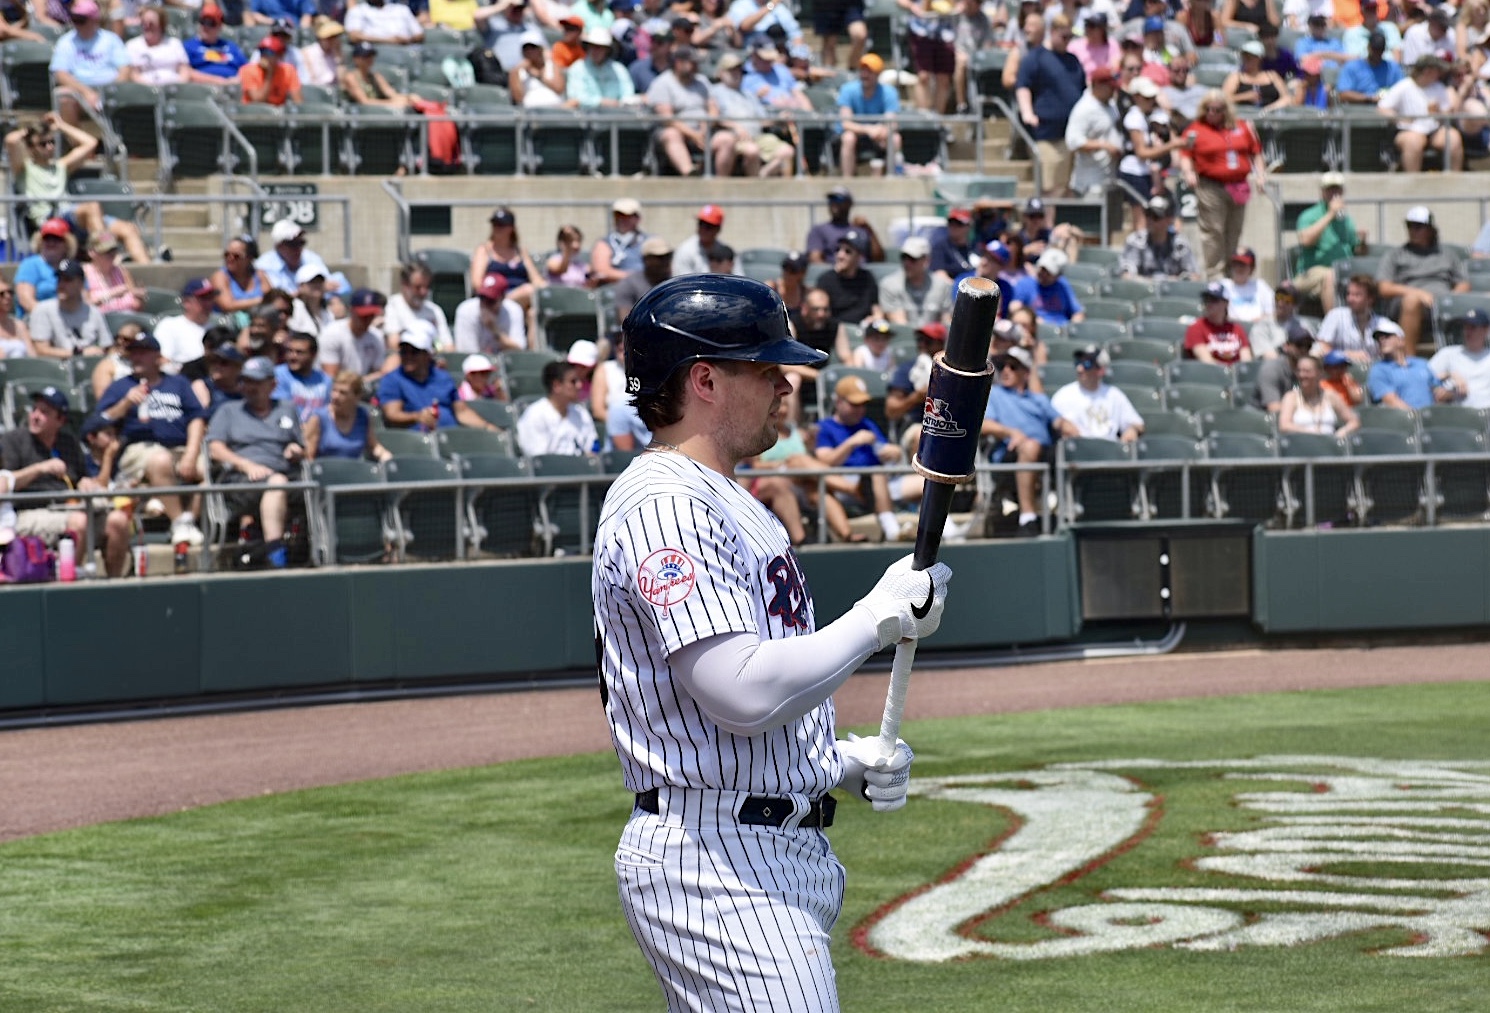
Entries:
[[[69,143],[69,152],[63,158],[55,156],[58,133]],[[97,137],[54,113],[45,113],[40,122],[6,134],[4,149],[10,171],[21,179],[21,192],[31,198],[25,213],[33,225],[60,217],[72,229],[86,235],[109,232],[124,243],[136,264],[150,262],[150,253],[134,222],[104,215],[98,201],[69,200],[67,182],[83,162],[98,153]],[[67,256],[73,256],[73,252]],[[30,305],[27,310],[30,311]]]

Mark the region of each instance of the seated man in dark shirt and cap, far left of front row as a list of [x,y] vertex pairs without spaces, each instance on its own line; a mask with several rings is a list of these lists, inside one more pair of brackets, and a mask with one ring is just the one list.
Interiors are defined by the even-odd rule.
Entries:
[[[61,493],[52,502],[31,501],[16,511],[13,529],[7,532],[12,538],[40,538],[54,548],[63,538],[72,538],[80,557],[89,511],[76,509],[76,501],[69,493],[74,489],[95,492],[104,486],[86,475],[82,448],[67,426],[69,408],[67,395],[57,387],[31,393],[25,425],[0,435],[0,480],[9,480],[3,489],[6,493]],[[104,571],[109,577],[124,577],[130,559],[130,518],[124,511],[107,512],[103,536]]]

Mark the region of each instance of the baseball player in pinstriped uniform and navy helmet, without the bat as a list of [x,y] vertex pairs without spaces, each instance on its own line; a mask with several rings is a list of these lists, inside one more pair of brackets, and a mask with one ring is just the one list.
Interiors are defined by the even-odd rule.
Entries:
[[621,907],[669,1010],[836,1010],[828,934],[843,867],[828,790],[906,800],[912,752],[834,740],[833,691],[937,629],[951,571],[894,563],[817,629],[781,523],[735,480],[776,439],[782,366],[821,365],[758,282],[663,282],[624,323],[653,442],[606,493],[595,542],[600,690],[636,807]]

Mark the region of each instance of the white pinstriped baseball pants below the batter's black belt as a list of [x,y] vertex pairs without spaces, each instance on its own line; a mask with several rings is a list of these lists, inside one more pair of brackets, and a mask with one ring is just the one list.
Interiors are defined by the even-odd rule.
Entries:
[[827,837],[697,822],[633,812],[615,851],[621,909],[668,1010],[834,1013],[843,866]]

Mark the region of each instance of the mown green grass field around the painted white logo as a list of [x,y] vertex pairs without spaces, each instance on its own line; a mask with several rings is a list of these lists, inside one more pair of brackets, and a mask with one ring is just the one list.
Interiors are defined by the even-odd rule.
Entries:
[[[915,773],[930,779],[1137,757],[1486,761],[1487,728],[1490,684],[1457,684],[928,721],[904,734],[918,752]],[[1068,937],[1046,916],[1103,903],[1104,889],[1265,886],[1204,871],[1195,860],[1214,852],[1210,834],[1258,825],[1238,793],[1310,793],[1210,769],[1123,773],[1156,800],[1143,840],[1001,909],[973,936],[1013,944]],[[1490,766],[1475,776],[1490,778]],[[12,842],[0,846],[0,1010],[656,1010],[660,994],[621,921],[611,868],[629,809],[605,754]],[[1490,807],[1466,803],[1451,815],[1469,827],[1463,840],[1490,854]],[[1016,827],[1001,809],[930,798],[884,816],[839,807],[830,837],[849,873],[834,933],[845,1010],[1486,1007],[1490,956],[1381,953],[1414,941],[1401,928],[1296,946],[1149,946],[1037,961],[919,964],[855,949],[851,936],[872,915]],[[1344,855],[1331,870],[1487,874],[1490,861],[1460,858],[1404,873]],[[1286,907],[1231,906],[1247,919]]]

